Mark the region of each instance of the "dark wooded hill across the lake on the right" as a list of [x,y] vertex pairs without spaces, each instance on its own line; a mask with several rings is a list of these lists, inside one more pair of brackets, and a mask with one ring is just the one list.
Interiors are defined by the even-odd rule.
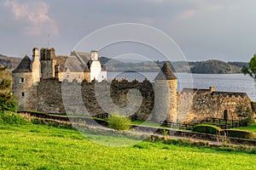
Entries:
[[190,71],[192,73],[204,73],[204,74],[230,74],[240,73],[241,67],[236,65],[230,65],[220,60],[207,60],[201,62],[190,63]]

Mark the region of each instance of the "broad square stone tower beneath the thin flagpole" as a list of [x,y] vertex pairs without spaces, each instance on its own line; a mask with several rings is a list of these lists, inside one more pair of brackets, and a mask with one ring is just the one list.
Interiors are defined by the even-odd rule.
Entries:
[[41,73],[42,78],[53,78],[55,77],[55,48],[41,48]]

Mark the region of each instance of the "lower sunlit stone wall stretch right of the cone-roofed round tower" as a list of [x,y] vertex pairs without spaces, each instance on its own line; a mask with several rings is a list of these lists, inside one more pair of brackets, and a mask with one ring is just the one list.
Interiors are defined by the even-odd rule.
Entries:
[[225,94],[189,94],[178,93],[178,122],[193,123],[206,120],[206,117],[224,119],[224,111],[228,111],[229,120],[237,120],[238,105],[252,109],[251,99],[247,96]]

